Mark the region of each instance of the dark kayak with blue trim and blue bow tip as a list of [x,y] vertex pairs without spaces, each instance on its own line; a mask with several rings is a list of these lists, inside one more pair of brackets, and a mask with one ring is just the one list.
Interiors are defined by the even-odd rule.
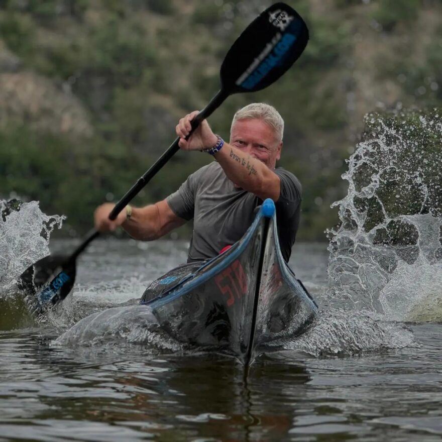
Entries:
[[140,302],[177,341],[245,365],[266,344],[300,335],[318,310],[282,257],[271,199],[230,249],[169,271]]

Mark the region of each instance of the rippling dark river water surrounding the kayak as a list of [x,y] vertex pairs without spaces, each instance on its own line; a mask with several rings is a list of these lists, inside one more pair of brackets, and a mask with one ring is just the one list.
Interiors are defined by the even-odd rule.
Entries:
[[320,306],[317,321],[247,377],[234,359],[137,340],[107,319],[92,339],[57,341],[89,313],[141,308],[133,300],[185,260],[187,245],[96,241],[61,308],[0,332],[0,441],[440,440],[442,323],[334,300],[326,244],[296,244],[290,262]]

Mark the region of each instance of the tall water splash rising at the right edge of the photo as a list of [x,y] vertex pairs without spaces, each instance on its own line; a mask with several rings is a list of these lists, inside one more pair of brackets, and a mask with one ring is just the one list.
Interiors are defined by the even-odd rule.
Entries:
[[329,232],[330,295],[413,320],[422,299],[437,308],[442,297],[442,119],[408,111],[366,122],[343,175],[348,194],[334,203],[341,224]]

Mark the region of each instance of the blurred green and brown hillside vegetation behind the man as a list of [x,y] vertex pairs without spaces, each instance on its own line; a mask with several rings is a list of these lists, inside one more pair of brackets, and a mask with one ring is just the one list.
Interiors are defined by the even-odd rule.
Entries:
[[[84,233],[174,140],[177,120],[219,88],[224,56],[261,0],[0,2],[0,197],[39,200]],[[286,122],[280,166],[303,184],[301,240],[325,241],[330,204],[364,115],[442,106],[440,0],[287,0],[310,30],[293,68],[232,96],[209,119],[273,104]],[[435,149],[435,148],[434,148]],[[135,204],[163,199],[208,155],[179,152]]]

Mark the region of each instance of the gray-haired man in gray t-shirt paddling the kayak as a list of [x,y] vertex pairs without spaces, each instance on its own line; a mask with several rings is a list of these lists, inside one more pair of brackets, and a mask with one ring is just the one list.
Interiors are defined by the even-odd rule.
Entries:
[[252,103],[235,114],[229,143],[215,135],[206,120],[186,141],[197,114],[186,115],[176,126],[179,147],[207,152],[216,161],[191,174],[166,199],[145,207],[128,205],[115,221],[108,219],[114,204],[98,206],[96,229],[106,232],[121,226],[135,239],[152,241],[193,218],[187,261],[201,261],[238,241],[252,223],[255,208],[271,198],[282,255],[288,261],[299,225],[301,185],[292,173],[275,168],[282,149],[282,117],[273,106]]

